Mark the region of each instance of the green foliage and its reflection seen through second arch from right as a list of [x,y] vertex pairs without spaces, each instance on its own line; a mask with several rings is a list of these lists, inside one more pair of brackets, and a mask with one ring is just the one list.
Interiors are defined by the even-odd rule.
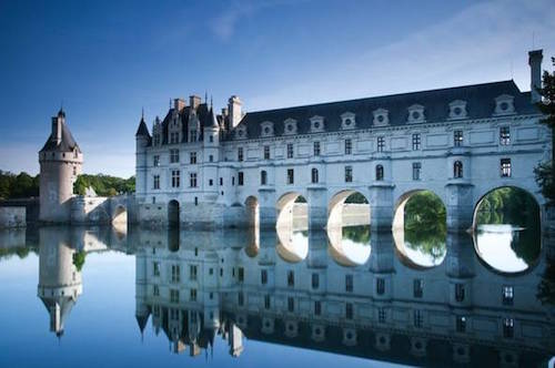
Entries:
[[407,246],[433,259],[443,258],[447,226],[442,200],[432,192],[418,192],[406,203],[404,216]]

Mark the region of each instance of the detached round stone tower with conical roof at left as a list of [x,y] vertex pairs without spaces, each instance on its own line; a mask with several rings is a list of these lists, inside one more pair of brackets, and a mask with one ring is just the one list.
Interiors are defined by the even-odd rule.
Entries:
[[40,221],[68,223],[73,183],[81,173],[83,154],[65,124],[60,109],[52,117],[52,132],[39,151],[40,163]]

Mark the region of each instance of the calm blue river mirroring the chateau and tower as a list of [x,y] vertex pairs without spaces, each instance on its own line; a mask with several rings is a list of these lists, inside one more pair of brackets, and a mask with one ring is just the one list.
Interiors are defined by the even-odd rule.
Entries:
[[553,274],[516,226],[3,232],[0,367],[536,367]]

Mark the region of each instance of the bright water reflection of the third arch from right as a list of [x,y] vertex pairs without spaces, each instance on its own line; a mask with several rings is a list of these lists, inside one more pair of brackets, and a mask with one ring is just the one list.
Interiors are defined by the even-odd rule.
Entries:
[[[369,227],[369,226],[352,226]],[[370,228],[369,228],[370,231]],[[341,266],[355,267],[366,263],[370,258],[370,242],[363,244],[345,237],[343,227],[329,227],[327,238],[330,241],[329,253],[332,258]]]

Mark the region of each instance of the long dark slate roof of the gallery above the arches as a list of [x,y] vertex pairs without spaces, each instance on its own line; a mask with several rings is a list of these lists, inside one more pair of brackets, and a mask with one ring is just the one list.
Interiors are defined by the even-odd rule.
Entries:
[[[467,119],[483,119],[492,116],[495,109],[495,98],[502,94],[514,96],[514,106],[518,114],[535,113],[531,103],[529,92],[521,92],[514,81],[501,81],[484,84],[464,85],[392,94],[385,96],[366,98],[350,101],[330,102],[313,105],[276,109],[250,112],[241,120],[246,125],[246,136],[256,139],[261,135],[261,123],[273,122],[274,136],[283,135],[284,121],[296,120],[297,134],[310,133],[310,117],[324,117],[325,132],[340,131],[341,115],[345,112],[355,114],[356,129],[373,126],[373,111],[385,109],[392,126],[405,125],[408,106],[420,104],[424,106],[426,123],[444,122],[448,117],[450,103],[455,100],[466,101]],[[236,127],[235,127],[236,129]]]

